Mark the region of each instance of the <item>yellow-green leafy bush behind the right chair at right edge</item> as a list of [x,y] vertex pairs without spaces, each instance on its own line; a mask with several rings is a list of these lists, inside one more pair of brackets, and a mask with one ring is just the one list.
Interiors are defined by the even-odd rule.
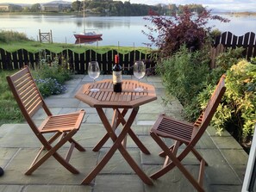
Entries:
[[[212,124],[217,133],[227,129],[245,146],[253,136],[256,123],[256,65],[246,59],[240,60],[227,71],[225,84],[224,102],[217,109]],[[205,97],[212,90],[213,85],[209,85],[197,96],[202,108],[205,107]]]

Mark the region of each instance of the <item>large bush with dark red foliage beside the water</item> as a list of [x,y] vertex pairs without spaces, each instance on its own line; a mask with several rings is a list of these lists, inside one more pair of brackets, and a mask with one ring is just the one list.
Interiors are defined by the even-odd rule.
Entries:
[[[160,56],[166,57],[176,53],[180,46],[186,45],[190,50],[200,50],[207,40],[212,27],[207,28],[209,20],[219,20],[220,22],[229,22],[228,19],[219,15],[210,15],[211,10],[204,9],[201,13],[191,12],[188,6],[184,6],[183,14],[174,14],[172,16],[157,15],[151,11],[145,20],[153,23],[154,27],[145,25],[149,30],[146,34],[152,41],[152,45],[159,48]],[[157,33],[158,36],[154,37]]]

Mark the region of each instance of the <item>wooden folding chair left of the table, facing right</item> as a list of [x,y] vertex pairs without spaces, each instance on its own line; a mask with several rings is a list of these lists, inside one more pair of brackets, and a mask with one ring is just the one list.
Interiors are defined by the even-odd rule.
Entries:
[[[34,134],[42,144],[40,151],[34,158],[33,163],[25,175],[32,174],[34,170],[41,166],[41,164],[51,156],[66,167],[67,170],[74,174],[79,173],[72,164],[69,164],[69,160],[75,147],[80,152],[85,151],[83,146],[80,146],[74,139],[72,139],[72,136],[78,132],[84,118],[84,110],[66,115],[52,115],[49,108],[47,108],[40,91],[34,83],[34,79],[28,69],[28,66],[25,66],[21,71],[18,71],[14,75],[6,78],[9,83],[10,90],[15,96],[16,102],[22,111],[22,115],[25,117],[26,121],[28,121],[29,127],[32,128]],[[44,109],[47,114],[47,118],[42,121],[41,126],[37,127],[32,117],[40,108]],[[44,136],[44,133],[52,133],[53,136],[50,139],[47,139]],[[66,158],[63,158],[57,151],[61,146],[66,144],[67,141],[71,143],[71,146],[66,153]],[[41,154],[44,150],[46,151],[45,154]]]

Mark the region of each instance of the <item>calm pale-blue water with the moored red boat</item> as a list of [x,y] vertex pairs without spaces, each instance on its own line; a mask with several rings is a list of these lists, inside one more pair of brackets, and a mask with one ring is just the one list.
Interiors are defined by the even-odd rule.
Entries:
[[[229,23],[210,22],[222,32],[231,31],[236,35],[247,32],[256,33],[256,16],[235,17],[222,15],[230,19]],[[53,42],[75,43],[74,33],[83,31],[83,18],[75,15],[0,15],[0,29],[15,30],[27,34],[28,38],[38,40],[41,32],[53,32]],[[145,24],[143,17],[86,17],[86,29],[97,29],[103,33],[99,46],[145,46],[147,36],[141,33]],[[94,43],[96,45],[96,43]]]

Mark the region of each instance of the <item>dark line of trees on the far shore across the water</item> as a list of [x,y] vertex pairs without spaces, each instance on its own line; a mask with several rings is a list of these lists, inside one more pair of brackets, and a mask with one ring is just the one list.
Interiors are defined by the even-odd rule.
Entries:
[[[59,3],[60,4],[60,3]],[[9,5],[9,12],[44,12],[42,9],[44,5],[40,3],[34,3],[31,6],[20,6],[17,4]],[[200,13],[203,11],[203,6],[201,4],[190,4],[191,11]],[[85,1],[74,1],[70,7],[63,6],[58,11],[54,12],[64,12],[64,13],[81,13],[85,11],[87,14],[96,15],[109,15],[109,16],[141,16],[149,15],[153,12],[157,15],[172,15],[174,13],[182,13],[184,9],[183,5],[176,4],[161,4],[157,3],[155,5],[130,3],[126,1],[113,1],[113,0],[85,0]]]

